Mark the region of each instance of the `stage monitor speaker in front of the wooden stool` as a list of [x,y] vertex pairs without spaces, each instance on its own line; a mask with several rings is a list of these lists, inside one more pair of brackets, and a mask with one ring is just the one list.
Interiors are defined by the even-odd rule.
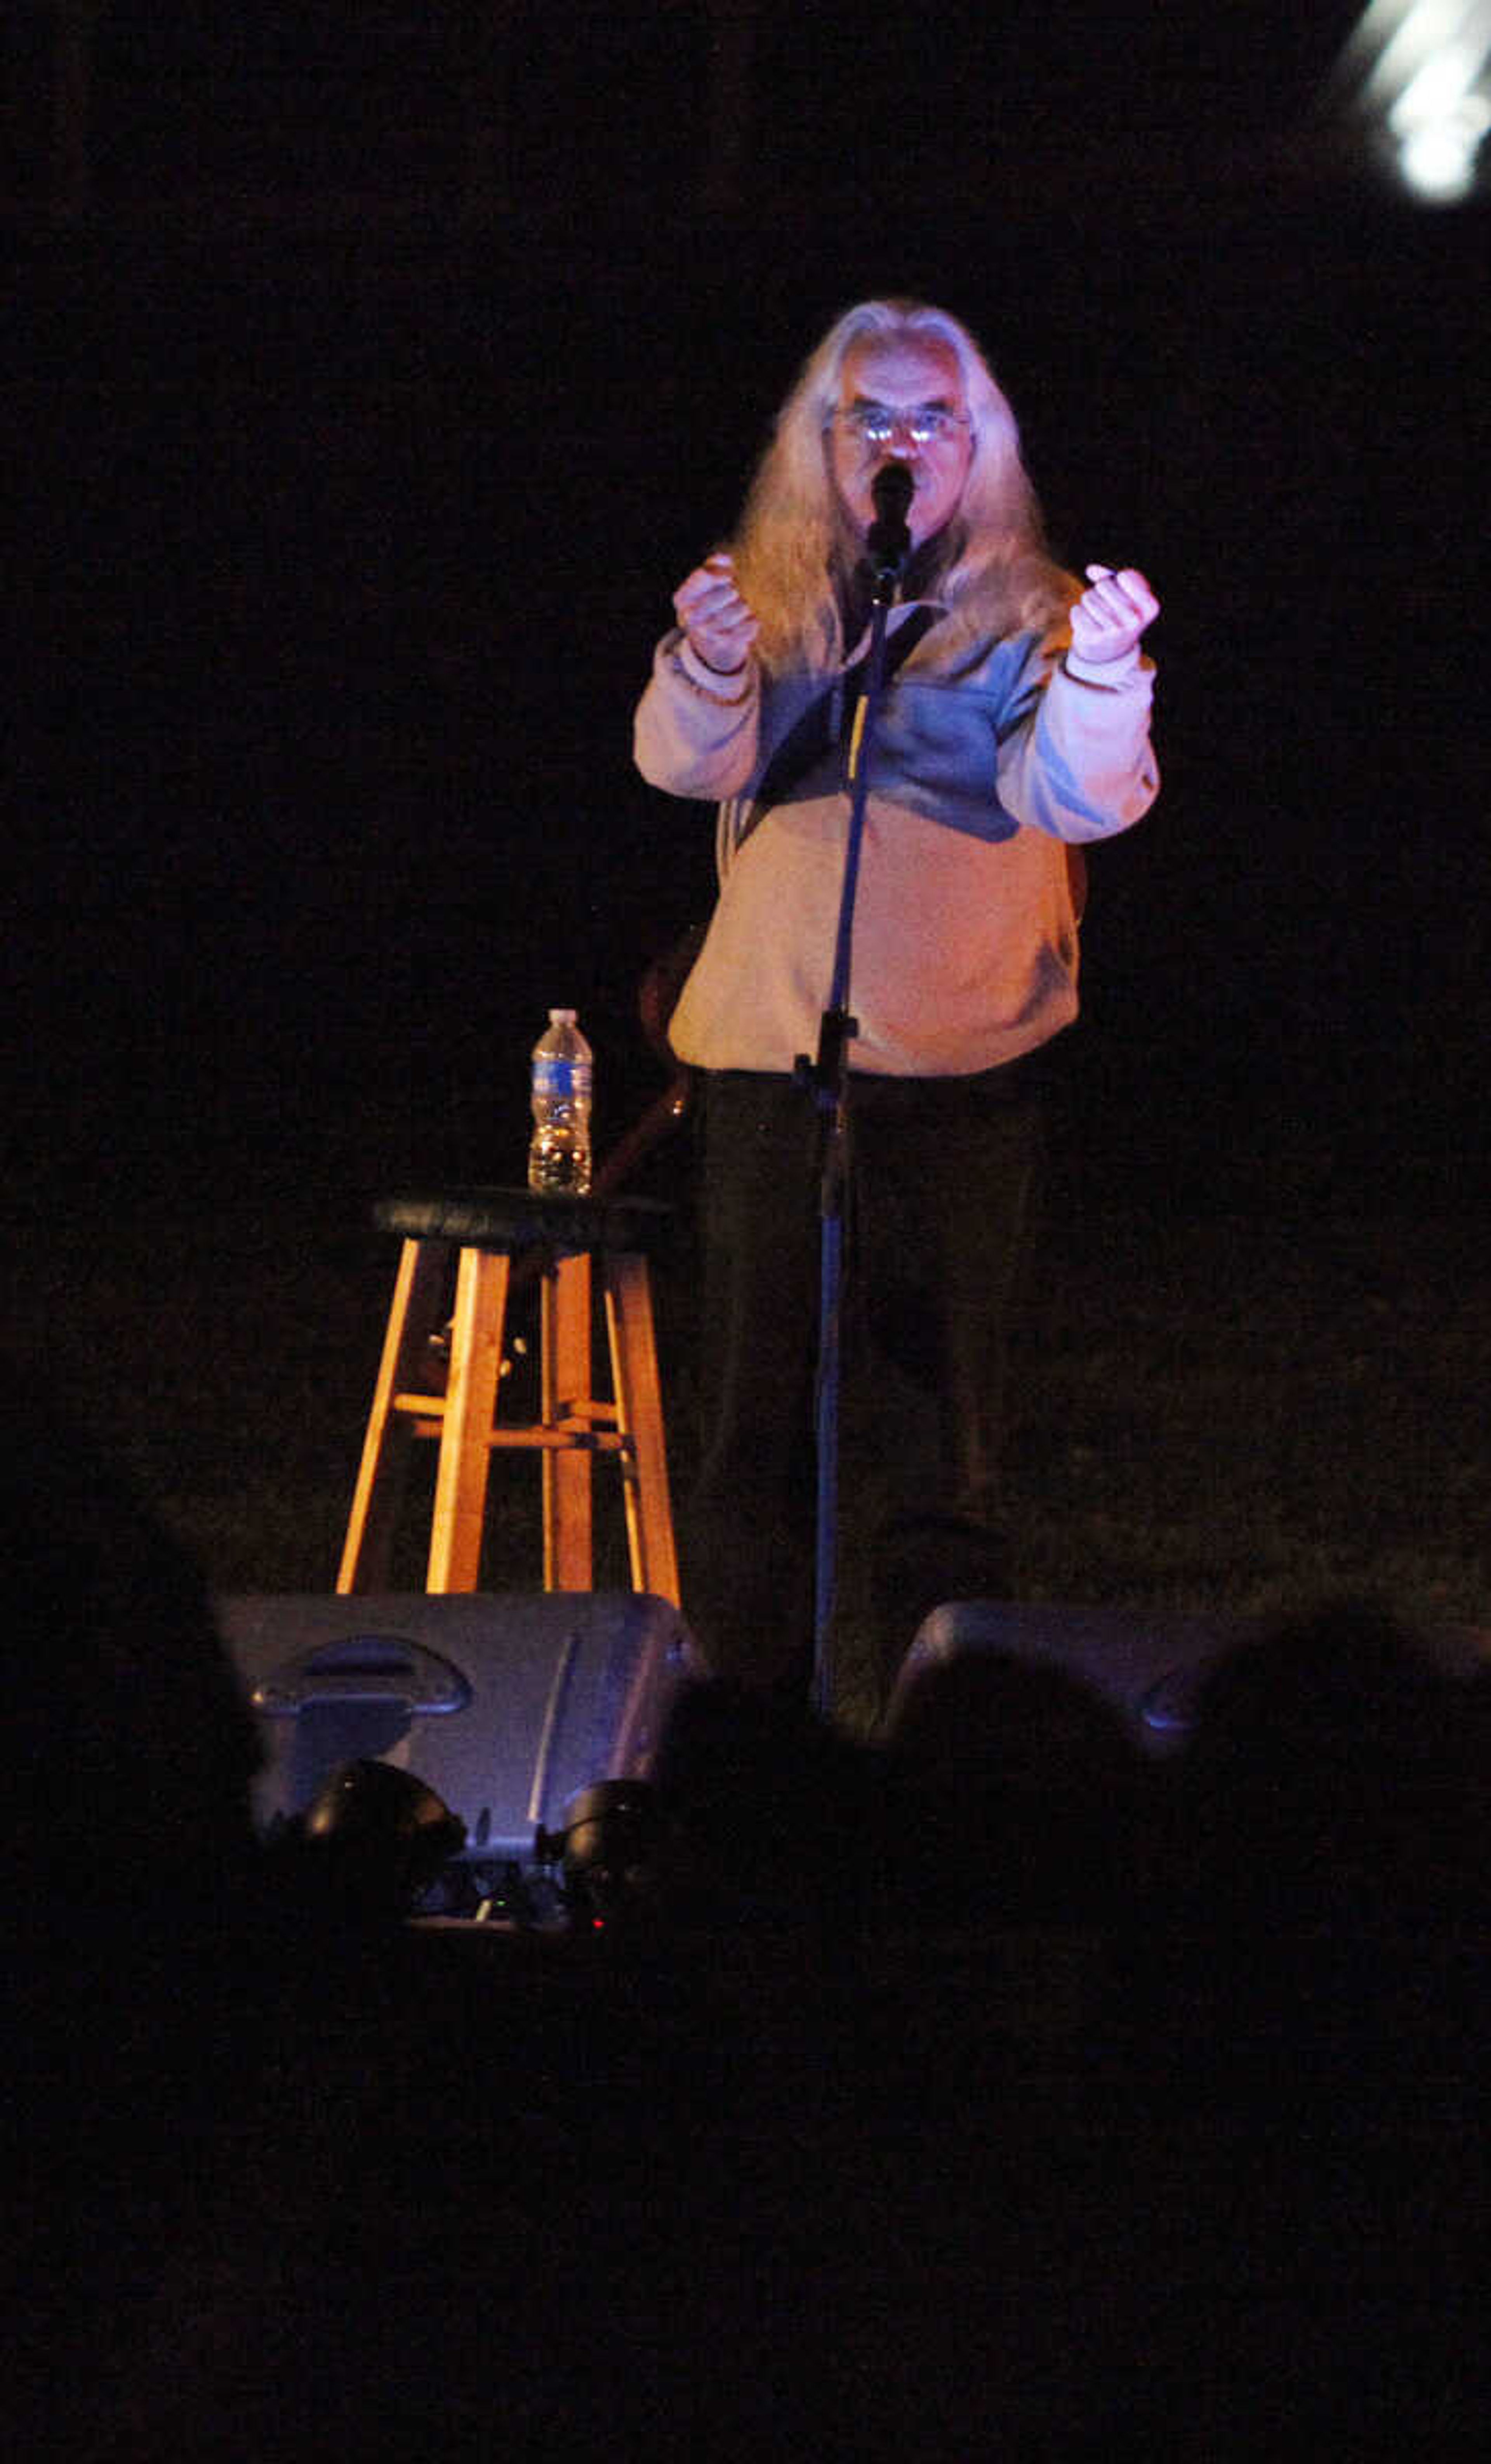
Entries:
[[387,1762],[466,1826],[466,1855],[527,1865],[535,1833],[611,1779],[646,1779],[700,1673],[678,1609],[643,1592],[239,1594],[217,1621],[264,1742],[254,1818],[303,1814],[335,1769]]

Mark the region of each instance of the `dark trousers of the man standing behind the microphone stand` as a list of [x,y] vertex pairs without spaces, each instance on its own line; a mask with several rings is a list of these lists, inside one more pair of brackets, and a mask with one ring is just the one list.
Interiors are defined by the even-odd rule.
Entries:
[[[922,1616],[1008,1587],[1001,1432],[1040,1165],[1040,1057],[853,1077],[843,1205],[835,1708],[863,1725]],[[821,1124],[794,1079],[712,1072],[702,1170],[702,1459],[683,1604],[710,1666],[813,1661]]]

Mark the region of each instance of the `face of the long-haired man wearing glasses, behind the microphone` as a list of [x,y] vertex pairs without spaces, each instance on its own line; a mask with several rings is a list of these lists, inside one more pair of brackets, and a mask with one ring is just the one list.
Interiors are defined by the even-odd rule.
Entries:
[[[865,434],[865,424],[890,434]],[[914,414],[944,414],[939,436],[912,436]],[[936,416],[922,426],[936,426]],[[845,352],[838,411],[828,439],[828,468],[850,522],[867,535],[875,520],[875,473],[902,461],[914,480],[907,527],[912,547],[951,520],[973,458],[973,431],[959,360],[949,342],[867,338]]]

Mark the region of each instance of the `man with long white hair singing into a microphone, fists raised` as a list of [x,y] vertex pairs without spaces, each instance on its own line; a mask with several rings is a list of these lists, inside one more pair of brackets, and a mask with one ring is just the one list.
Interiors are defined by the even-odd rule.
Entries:
[[[939,308],[865,301],[803,365],[739,527],[673,594],[643,776],[717,803],[720,899],[673,1013],[705,1087],[705,1444],[683,1525],[710,1663],[796,1688],[813,1636],[818,1109],[877,473],[909,547],[867,752],[848,1010],[833,1668],[865,1725],[922,1614],[1001,1597],[1010,1296],[1042,1047],[1077,1015],[1079,848],[1151,806],[1158,601],[1045,549],[1013,411]],[[863,675],[863,665],[860,665]]]

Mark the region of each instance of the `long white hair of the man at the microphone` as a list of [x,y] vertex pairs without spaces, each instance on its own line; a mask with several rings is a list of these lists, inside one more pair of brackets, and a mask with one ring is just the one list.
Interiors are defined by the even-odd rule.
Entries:
[[860,545],[828,471],[828,429],[843,362],[855,342],[944,342],[959,362],[973,421],[969,478],[936,547],[936,596],[949,618],[917,653],[919,665],[956,665],[976,638],[1001,638],[1060,621],[1077,584],[1045,549],[1040,505],[1020,458],[1015,414],[966,325],[922,301],[860,301],[828,328],[776,414],[732,540],[739,591],[762,631],[757,658],[771,673],[831,668],[843,658],[835,579]]

